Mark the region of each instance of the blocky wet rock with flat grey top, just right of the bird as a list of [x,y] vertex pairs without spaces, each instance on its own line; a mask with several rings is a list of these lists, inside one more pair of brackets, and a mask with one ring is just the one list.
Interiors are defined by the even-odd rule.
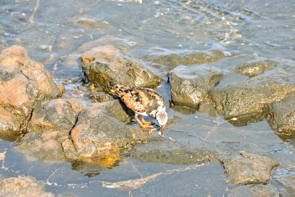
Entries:
[[175,104],[198,108],[223,72],[212,66],[177,66],[169,73],[171,98]]

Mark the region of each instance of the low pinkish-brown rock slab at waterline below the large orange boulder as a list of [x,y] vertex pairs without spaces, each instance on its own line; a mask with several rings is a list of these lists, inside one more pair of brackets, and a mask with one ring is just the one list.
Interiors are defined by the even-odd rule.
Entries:
[[65,160],[61,142],[68,138],[68,132],[29,132],[23,137],[23,140],[16,148],[24,154],[29,154],[29,156],[38,159],[51,161]]

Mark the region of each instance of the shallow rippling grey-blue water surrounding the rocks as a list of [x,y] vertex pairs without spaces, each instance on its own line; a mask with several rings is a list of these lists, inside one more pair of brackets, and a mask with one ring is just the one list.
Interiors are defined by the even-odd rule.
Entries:
[[[295,60],[294,22],[294,0],[0,0],[0,51],[14,44],[24,46],[31,59],[41,62],[56,81],[65,84],[64,99],[87,101],[81,66],[69,57],[79,55],[82,44],[101,39],[98,44],[113,44],[165,76],[157,91],[169,107],[166,74],[177,64],[169,58],[160,59],[162,56],[207,52],[213,59],[180,62],[208,63],[224,70],[260,56]],[[244,78],[228,72],[222,80],[234,83]],[[181,107],[167,112],[177,124],[164,131],[166,138],[174,139],[181,133],[225,144],[241,142],[276,159],[282,167],[295,167],[294,141],[279,138],[266,120],[234,127],[222,116],[209,117]],[[125,158],[118,167],[105,169],[95,164],[37,160],[17,151],[15,145],[0,141],[0,152],[6,151],[1,177],[36,177],[45,181],[46,191],[57,196],[207,197],[223,196],[235,187],[225,183],[219,162],[194,166]],[[167,174],[150,178],[137,189],[103,187],[104,182],[136,180],[159,172]]]

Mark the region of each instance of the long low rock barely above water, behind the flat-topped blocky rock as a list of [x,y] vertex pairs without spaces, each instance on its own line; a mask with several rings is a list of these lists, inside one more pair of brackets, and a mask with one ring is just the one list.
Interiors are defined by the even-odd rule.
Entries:
[[196,52],[181,50],[172,52],[167,49],[152,49],[148,56],[143,57],[145,61],[166,66],[171,70],[178,65],[206,64],[224,58],[221,51]]

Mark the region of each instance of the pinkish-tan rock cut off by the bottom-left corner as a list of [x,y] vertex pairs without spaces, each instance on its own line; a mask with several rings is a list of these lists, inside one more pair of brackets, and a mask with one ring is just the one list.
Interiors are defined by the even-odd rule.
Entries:
[[0,197],[54,197],[46,193],[44,182],[34,177],[13,177],[0,183]]

